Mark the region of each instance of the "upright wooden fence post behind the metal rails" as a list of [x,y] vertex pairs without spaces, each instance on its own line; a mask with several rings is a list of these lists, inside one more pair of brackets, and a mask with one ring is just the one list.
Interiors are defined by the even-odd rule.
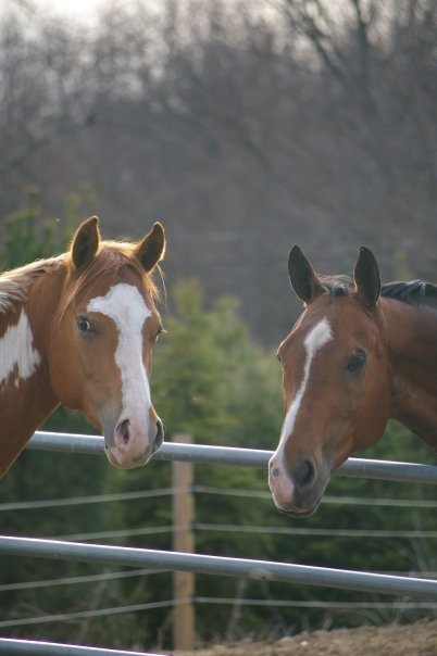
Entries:
[[[190,444],[191,436],[175,434],[174,442]],[[192,521],[195,501],[192,495],[193,464],[173,462],[173,550],[193,553],[195,539]],[[193,649],[195,647],[195,575],[190,571],[173,573],[173,648]]]

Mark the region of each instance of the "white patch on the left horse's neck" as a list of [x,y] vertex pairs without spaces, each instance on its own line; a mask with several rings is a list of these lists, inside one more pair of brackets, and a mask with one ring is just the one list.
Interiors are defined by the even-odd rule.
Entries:
[[26,313],[22,310],[18,323],[9,326],[5,333],[0,338],[0,386],[16,367],[15,387],[22,380],[30,378],[41,356],[33,346],[34,337]]

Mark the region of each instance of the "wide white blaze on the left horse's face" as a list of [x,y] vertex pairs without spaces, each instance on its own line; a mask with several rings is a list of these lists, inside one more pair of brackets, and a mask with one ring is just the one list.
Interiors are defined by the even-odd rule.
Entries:
[[142,362],[142,328],[152,313],[138,289],[126,282],[111,287],[104,297],[92,299],[88,312],[110,317],[118,331],[115,363],[122,377],[122,414],[147,421],[151,405],[150,386]]

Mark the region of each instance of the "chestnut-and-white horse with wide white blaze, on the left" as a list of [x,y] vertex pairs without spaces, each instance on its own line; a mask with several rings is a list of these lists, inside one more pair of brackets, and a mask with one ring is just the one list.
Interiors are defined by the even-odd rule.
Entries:
[[120,243],[101,241],[93,216],[67,253],[0,276],[0,475],[60,403],[104,434],[117,467],[143,465],[160,447],[149,377],[162,328],[150,274],[164,249],[159,223]]

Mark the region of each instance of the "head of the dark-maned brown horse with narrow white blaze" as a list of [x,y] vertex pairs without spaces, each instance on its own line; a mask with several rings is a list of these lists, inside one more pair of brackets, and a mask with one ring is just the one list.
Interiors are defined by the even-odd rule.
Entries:
[[278,350],[286,417],[270,487],[278,509],[302,517],[317,508],[333,469],[384,432],[389,367],[370,250],[361,249],[353,278],[319,277],[298,247],[288,270],[305,310]]

